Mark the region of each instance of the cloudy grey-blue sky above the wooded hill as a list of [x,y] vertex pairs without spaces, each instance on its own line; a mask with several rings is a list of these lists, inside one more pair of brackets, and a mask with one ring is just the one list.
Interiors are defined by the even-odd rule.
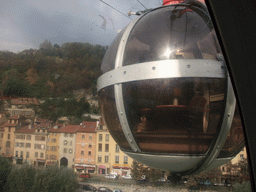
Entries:
[[[103,1],[126,15],[129,11],[144,10],[138,0]],[[162,0],[140,2],[155,8]],[[0,50],[15,53],[38,49],[44,40],[59,45],[110,45],[117,31],[132,21],[100,0],[0,0],[0,4]]]

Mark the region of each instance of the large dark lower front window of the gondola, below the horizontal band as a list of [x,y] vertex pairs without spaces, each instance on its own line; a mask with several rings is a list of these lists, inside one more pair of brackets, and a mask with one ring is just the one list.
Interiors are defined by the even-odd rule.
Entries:
[[205,153],[222,120],[225,82],[176,78],[124,83],[126,115],[140,149]]

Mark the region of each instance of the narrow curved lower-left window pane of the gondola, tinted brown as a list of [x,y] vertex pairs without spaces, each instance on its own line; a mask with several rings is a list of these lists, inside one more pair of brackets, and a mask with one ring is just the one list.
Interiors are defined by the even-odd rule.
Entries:
[[118,119],[114,97],[114,86],[106,87],[99,91],[99,102],[110,134],[121,148],[131,150]]

